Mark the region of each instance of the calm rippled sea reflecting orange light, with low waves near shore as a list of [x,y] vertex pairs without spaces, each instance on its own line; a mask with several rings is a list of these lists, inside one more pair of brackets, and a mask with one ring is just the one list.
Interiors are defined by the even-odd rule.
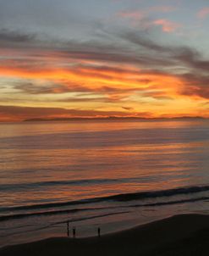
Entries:
[[0,125],[0,246],[208,213],[209,121]]

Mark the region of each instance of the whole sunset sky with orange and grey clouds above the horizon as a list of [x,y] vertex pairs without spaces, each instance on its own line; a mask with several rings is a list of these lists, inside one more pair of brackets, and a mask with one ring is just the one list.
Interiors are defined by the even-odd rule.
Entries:
[[0,121],[209,117],[207,0],[0,0]]

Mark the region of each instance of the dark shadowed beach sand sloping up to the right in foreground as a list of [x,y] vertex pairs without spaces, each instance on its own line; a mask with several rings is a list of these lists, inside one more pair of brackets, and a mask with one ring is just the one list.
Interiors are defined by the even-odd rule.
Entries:
[[209,255],[209,215],[177,215],[100,238],[49,238],[1,248],[0,255]]

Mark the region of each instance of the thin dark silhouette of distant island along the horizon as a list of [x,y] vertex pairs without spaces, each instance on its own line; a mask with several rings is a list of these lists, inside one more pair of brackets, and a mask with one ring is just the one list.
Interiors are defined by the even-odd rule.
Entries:
[[34,118],[27,119],[24,122],[45,122],[45,121],[103,121],[103,120],[205,120],[206,118],[201,116],[181,116],[181,117],[159,117],[159,118],[146,118],[146,117],[118,117],[118,116],[108,116],[108,117],[68,117],[68,118]]

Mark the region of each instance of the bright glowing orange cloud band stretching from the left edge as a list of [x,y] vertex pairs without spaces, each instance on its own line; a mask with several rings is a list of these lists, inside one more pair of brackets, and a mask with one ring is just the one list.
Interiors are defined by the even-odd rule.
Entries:
[[[0,66],[0,75],[25,80],[52,81],[55,85],[52,89],[47,86],[39,86],[40,93],[64,93],[64,92],[101,92],[110,98],[128,96],[135,91],[146,91],[150,87],[161,90],[165,95],[177,94],[179,79],[174,75],[164,75],[154,72],[140,71],[139,69],[125,69],[105,66],[78,65],[71,69],[42,69],[31,70],[27,67],[10,68]],[[166,86],[165,86],[166,85]],[[26,85],[27,86],[27,85]],[[28,85],[32,86],[32,85]],[[21,86],[19,86],[21,88]],[[36,93],[37,90],[27,89],[25,92]]]

